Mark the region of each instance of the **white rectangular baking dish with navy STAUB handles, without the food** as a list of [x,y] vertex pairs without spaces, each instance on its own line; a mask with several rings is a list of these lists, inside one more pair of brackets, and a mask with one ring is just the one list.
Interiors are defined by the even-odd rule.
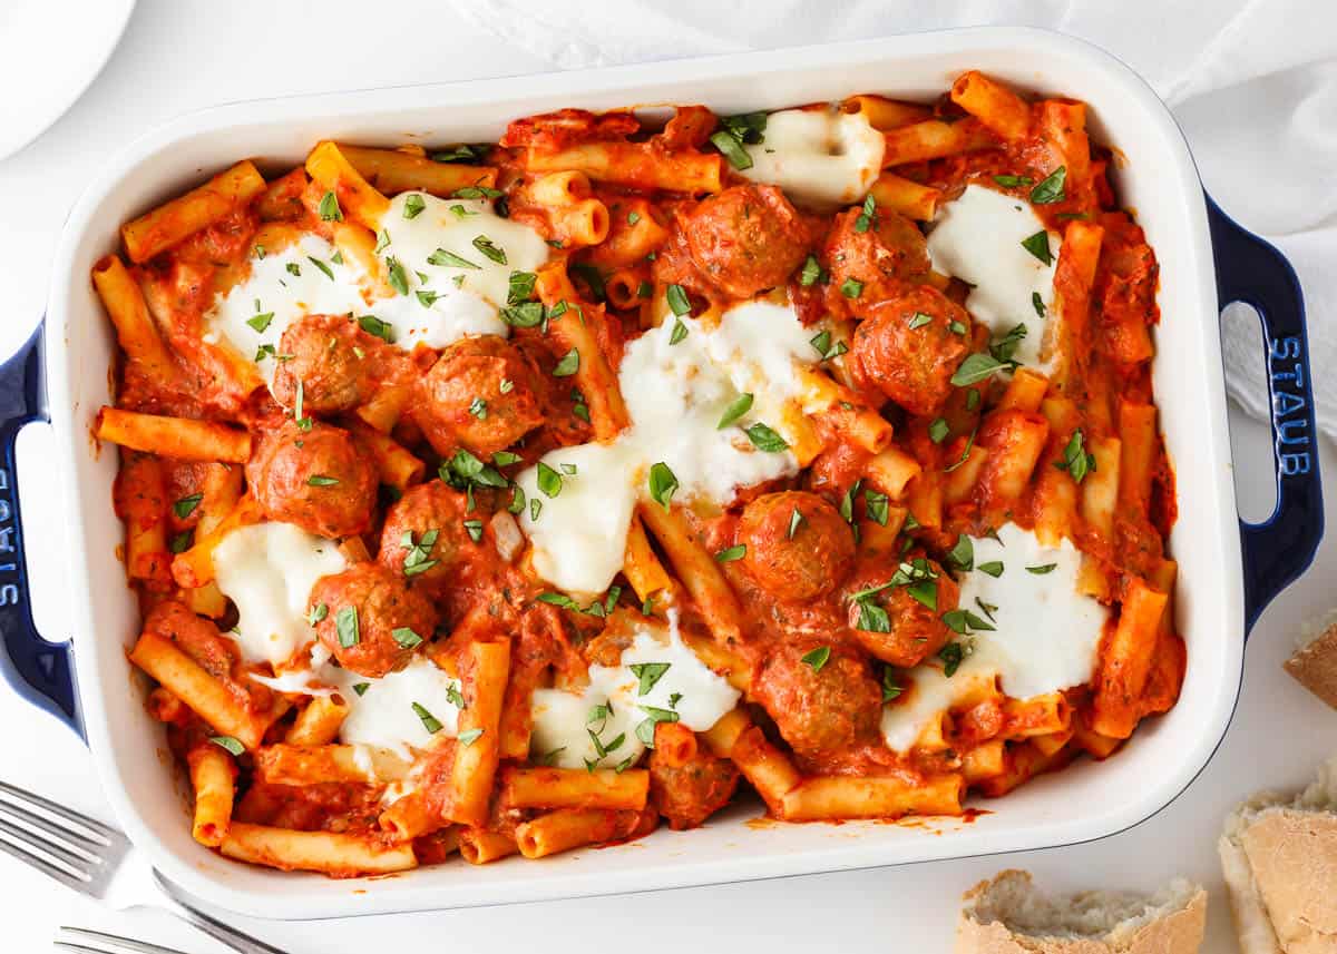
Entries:
[[[1189,647],[1179,704],[1126,751],[977,803],[971,822],[747,824],[735,807],[703,828],[659,831],[611,850],[543,862],[463,863],[401,877],[328,881],[229,862],[190,835],[187,795],[162,730],[143,709],[126,648],[135,599],[116,559],[111,508],[116,454],[90,438],[110,400],[114,338],[88,273],[118,226],[241,156],[267,171],[302,160],[324,138],[368,144],[495,140],[505,123],[559,107],[705,103],[721,114],[774,110],[856,92],[932,99],[968,69],[1016,88],[1091,106],[1092,134],[1126,160],[1116,172],[1162,266],[1154,375],[1178,470],[1178,625]],[[269,918],[325,918],[521,902],[751,878],[901,864],[1102,838],[1175,798],[1206,764],[1235,704],[1243,641],[1262,607],[1308,567],[1322,532],[1308,350],[1300,290],[1270,246],[1234,226],[1202,192],[1185,139],[1151,90],[1084,43],[1034,29],[968,29],[643,67],[524,76],[241,103],[182,118],[104,164],[64,231],[39,333],[0,369],[0,565],[3,667],[16,688],[83,731],[116,815],[155,867],[191,894]],[[1214,263],[1215,254],[1215,263]],[[1219,302],[1218,302],[1219,291]],[[1218,305],[1247,301],[1263,317],[1275,400],[1280,501],[1261,525],[1238,521],[1226,432]],[[1262,357],[1262,355],[1261,355]],[[31,420],[57,432],[70,553],[71,644],[32,629],[13,481],[13,437]],[[78,676],[75,679],[75,676]],[[74,688],[78,683],[78,693]]]

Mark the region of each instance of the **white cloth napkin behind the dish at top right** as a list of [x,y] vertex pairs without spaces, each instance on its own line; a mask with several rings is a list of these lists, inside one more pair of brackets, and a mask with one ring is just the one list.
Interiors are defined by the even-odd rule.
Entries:
[[[1090,40],[1140,72],[1183,126],[1207,191],[1300,273],[1314,369],[1337,365],[1334,0],[452,0],[555,68],[853,40],[979,24]],[[1167,315],[1173,321],[1173,315]],[[1226,379],[1255,417],[1267,389],[1257,322],[1227,314]],[[1337,375],[1317,375],[1337,437]]]

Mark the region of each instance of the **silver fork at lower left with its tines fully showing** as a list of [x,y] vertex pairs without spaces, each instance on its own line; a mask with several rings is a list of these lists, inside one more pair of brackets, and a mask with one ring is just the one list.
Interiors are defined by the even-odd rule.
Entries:
[[5,782],[0,782],[0,852],[116,910],[160,907],[241,954],[287,954],[193,907],[122,832]]

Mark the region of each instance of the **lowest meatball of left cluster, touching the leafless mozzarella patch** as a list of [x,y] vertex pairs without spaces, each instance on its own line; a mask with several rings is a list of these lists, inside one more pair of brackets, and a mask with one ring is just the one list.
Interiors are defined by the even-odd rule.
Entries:
[[[340,665],[372,679],[409,664],[416,641],[402,631],[412,629],[425,640],[436,628],[431,601],[378,563],[358,563],[322,576],[312,587],[310,608],[313,619],[321,617],[317,637]],[[396,631],[402,641],[394,637]]]

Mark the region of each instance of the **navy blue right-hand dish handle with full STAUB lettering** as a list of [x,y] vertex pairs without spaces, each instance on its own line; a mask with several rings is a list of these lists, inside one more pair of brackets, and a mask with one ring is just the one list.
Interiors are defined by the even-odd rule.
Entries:
[[1271,398],[1277,506],[1261,524],[1239,521],[1245,571],[1245,633],[1309,564],[1324,537],[1318,428],[1310,390],[1309,341],[1300,279],[1286,257],[1207,198],[1219,307],[1253,306],[1262,319]]

